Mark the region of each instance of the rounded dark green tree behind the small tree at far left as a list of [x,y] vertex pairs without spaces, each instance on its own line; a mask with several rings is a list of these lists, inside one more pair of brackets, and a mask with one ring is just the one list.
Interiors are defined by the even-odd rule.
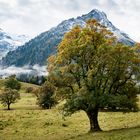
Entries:
[[5,88],[11,88],[20,90],[21,84],[20,82],[15,78],[15,76],[10,76],[4,83]]

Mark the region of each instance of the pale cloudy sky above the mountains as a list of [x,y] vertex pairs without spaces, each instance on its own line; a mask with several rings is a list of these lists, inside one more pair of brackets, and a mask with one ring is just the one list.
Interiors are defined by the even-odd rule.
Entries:
[[140,42],[140,0],[0,0],[0,28],[34,37],[95,8]]

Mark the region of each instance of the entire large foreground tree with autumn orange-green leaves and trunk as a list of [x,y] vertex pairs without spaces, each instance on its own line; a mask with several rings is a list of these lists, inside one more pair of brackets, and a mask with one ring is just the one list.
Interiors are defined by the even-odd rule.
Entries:
[[136,111],[138,49],[118,43],[96,20],[68,32],[57,54],[48,59],[48,79],[66,99],[65,113],[85,111],[93,132],[101,130],[101,109]]

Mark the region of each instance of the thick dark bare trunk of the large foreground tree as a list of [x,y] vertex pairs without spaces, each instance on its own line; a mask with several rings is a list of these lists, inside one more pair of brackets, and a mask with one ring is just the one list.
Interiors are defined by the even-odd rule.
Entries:
[[98,123],[98,109],[93,109],[86,113],[90,121],[90,132],[101,131]]

